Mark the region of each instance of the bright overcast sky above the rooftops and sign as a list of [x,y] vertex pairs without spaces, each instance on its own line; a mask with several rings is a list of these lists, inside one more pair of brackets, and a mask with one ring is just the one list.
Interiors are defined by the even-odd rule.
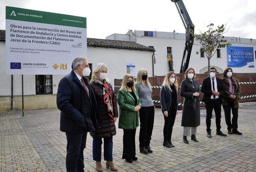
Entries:
[[[256,0],[183,0],[195,32],[209,23],[230,27],[225,36],[256,39]],[[87,17],[87,37],[101,38],[131,30],[185,33],[170,0],[0,0],[0,29],[5,6]]]

